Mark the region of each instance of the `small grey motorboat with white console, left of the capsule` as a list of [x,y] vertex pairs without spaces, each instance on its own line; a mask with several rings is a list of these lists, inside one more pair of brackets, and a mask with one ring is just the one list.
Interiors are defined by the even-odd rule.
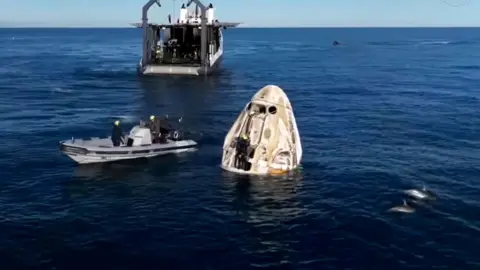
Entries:
[[152,140],[150,128],[134,126],[123,134],[120,146],[114,146],[111,137],[92,137],[87,140],[72,138],[60,142],[60,151],[79,164],[113,162],[127,159],[151,158],[195,150],[197,143],[183,138],[181,130],[172,130],[162,142]]

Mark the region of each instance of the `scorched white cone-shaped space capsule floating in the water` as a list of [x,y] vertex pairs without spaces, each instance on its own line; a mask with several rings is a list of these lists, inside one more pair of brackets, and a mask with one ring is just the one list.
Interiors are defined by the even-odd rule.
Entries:
[[280,87],[267,85],[253,96],[225,137],[221,166],[240,174],[286,174],[300,165],[302,153],[290,100]]

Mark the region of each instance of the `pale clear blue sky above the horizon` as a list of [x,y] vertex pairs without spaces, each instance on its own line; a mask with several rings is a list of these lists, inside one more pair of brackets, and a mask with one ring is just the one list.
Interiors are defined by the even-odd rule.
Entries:
[[[479,0],[216,0],[220,21],[244,26],[480,26]],[[115,26],[140,22],[146,0],[0,0],[2,26]],[[161,0],[150,21],[186,0]],[[204,0],[204,4],[208,4]]]

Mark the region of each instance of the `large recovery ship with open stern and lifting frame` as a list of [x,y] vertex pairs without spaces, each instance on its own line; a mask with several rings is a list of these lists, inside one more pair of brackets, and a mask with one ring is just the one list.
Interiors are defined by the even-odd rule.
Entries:
[[[199,0],[190,0],[182,5],[180,16],[168,24],[148,23],[148,10],[158,0],[150,0],[142,10],[142,23],[134,24],[143,28],[143,54],[138,70],[142,75],[210,75],[214,73],[223,58],[223,33],[227,27],[240,23],[224,23],[215,19],[212,4],[204,6]],[[195,10],[188,6],[196,4]]]

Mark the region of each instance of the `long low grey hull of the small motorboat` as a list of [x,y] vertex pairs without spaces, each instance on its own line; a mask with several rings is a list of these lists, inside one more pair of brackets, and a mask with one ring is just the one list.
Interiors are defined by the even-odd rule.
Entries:
[[[108,138],[98,139],[108,143]],[[60,142],[60,151],[78,164],[106,163],[139,158],[152,158],[167,154],[195,151],[197,143],[192,140],[169,141],[166,144],[146,146],[89,146],[89,141],[68,140]],[[111,144],[111,142],[110,142]]]

